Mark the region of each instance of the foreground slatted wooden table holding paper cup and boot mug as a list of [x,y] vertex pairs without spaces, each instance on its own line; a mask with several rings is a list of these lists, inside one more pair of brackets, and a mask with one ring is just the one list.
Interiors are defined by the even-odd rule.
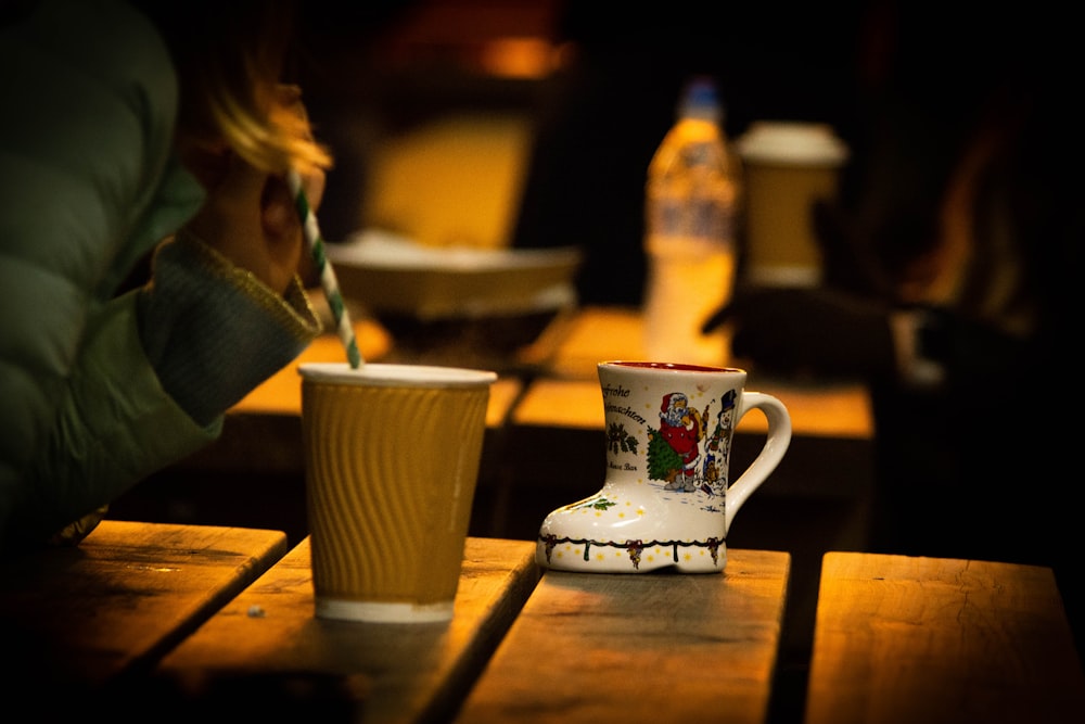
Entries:
[[787,552],[729,548],[723,574],[540,576],[533,542],[470,537],[450,622],[365,624],[316,619],[308,539],[283,548],[273,531],[105,521],[8,558],[4,704],[141,724],[1085,721],[1046,568],[828,554],[792,690]]

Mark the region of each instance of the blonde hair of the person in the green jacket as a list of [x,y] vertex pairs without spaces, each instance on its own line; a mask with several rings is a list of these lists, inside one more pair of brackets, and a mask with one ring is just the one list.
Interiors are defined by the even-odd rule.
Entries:
[[270,174],[329,168],[299,103],[284,102],[282,74],[291,49],[291,0],[148,0],[177,66],[178,136],[197,145],[226,143]]

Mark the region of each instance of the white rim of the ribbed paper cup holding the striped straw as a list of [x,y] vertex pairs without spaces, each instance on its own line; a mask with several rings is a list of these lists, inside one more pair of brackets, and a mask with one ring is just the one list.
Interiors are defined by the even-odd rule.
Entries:
[[305,363],[297,373],[304,380],[332,384],[397,388],[481,388],[497,381],[497,372],[437,365],[394,365],[365,363]]

